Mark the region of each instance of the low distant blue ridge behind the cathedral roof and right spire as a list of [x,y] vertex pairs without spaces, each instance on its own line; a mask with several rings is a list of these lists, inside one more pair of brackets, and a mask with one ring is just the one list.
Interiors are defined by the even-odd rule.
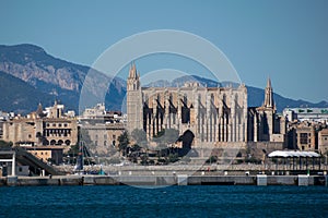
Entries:
[[[177,78],[173,80],[172,82],[161,80],[161,81],[152,82],[145,86],[148,86],[148,87],[161,87],[161,86],[179,87],[179,86],[183,86],[185,83],[190,83],[190,82],[198,82],[201,86],[207,86],[207,87],[226,87],[226,86],[237,87],[238,86],[238,84],[236,84],[236,83],[231,83],[231,82],[218,83],[215,81],[212,81],[209,78],[203,78],[203,77],[200,77],[197,75],[185,75],[181,77],[177,77]],[[248,107],[261,106],[265,100],[265,89],[253,87],[253,86],[247,86],[247,85],[246,85],[246,87],[247,87]],[[273,92],[274,92],[274,85],[273,85]],[[327,108],[328,107],[327,101],[320,101],[317,104],[313,104],[313,102],[301,100],[301,99],[293,100],[291,98],[285,98],[281,95],[274,94],[274,93],[273,93],[273,99],[274,99],[278,112],[282,112],[282,110],[286,107],[290,107],[290,108],[297,108],[297,107]]]

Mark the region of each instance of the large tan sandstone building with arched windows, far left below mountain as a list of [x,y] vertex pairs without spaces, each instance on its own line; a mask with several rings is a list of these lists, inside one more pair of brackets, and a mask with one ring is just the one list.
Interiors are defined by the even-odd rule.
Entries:
[[15,117],[3,122],[2,140],[14,145],[58,145],[70,146],[78,142],[78,122],[75,118],[63,114],[63,107],[55,101],[48,112],[42,106],[25,117]]

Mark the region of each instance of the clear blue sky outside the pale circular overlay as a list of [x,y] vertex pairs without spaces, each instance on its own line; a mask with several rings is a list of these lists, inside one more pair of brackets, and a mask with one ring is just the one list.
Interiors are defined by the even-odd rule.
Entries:
[[319,101],[328,100],[327,22],[327,0],[1,0],[0,44],[91,65],[132,34],[186,31],[219,47],[247,85],[265,87],[270,76],[276,93]]

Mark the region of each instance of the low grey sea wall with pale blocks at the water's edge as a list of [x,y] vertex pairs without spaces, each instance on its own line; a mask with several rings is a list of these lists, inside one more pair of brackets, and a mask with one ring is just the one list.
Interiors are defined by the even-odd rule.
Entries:
[[0,186],[36,185],[328,185],[328,175],[57,175],[2,177]]

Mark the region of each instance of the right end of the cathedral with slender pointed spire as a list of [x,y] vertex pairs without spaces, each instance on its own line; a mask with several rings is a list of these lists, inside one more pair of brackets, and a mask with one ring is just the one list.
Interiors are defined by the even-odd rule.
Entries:
[[284,117],[277,113],[270,78],[268,78],[262,106],[248,109],[247,134],[249,142],[284,144],[286,141],[286,121]]

